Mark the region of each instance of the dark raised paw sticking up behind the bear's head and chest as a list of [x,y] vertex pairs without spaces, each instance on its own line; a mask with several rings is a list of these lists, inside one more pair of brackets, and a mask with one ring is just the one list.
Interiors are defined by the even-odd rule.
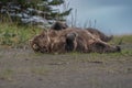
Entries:
[[67,28],[68,25],[66,23],[57,21],[51,26],[51,30],[59,31],[59,30],[65,30]]

